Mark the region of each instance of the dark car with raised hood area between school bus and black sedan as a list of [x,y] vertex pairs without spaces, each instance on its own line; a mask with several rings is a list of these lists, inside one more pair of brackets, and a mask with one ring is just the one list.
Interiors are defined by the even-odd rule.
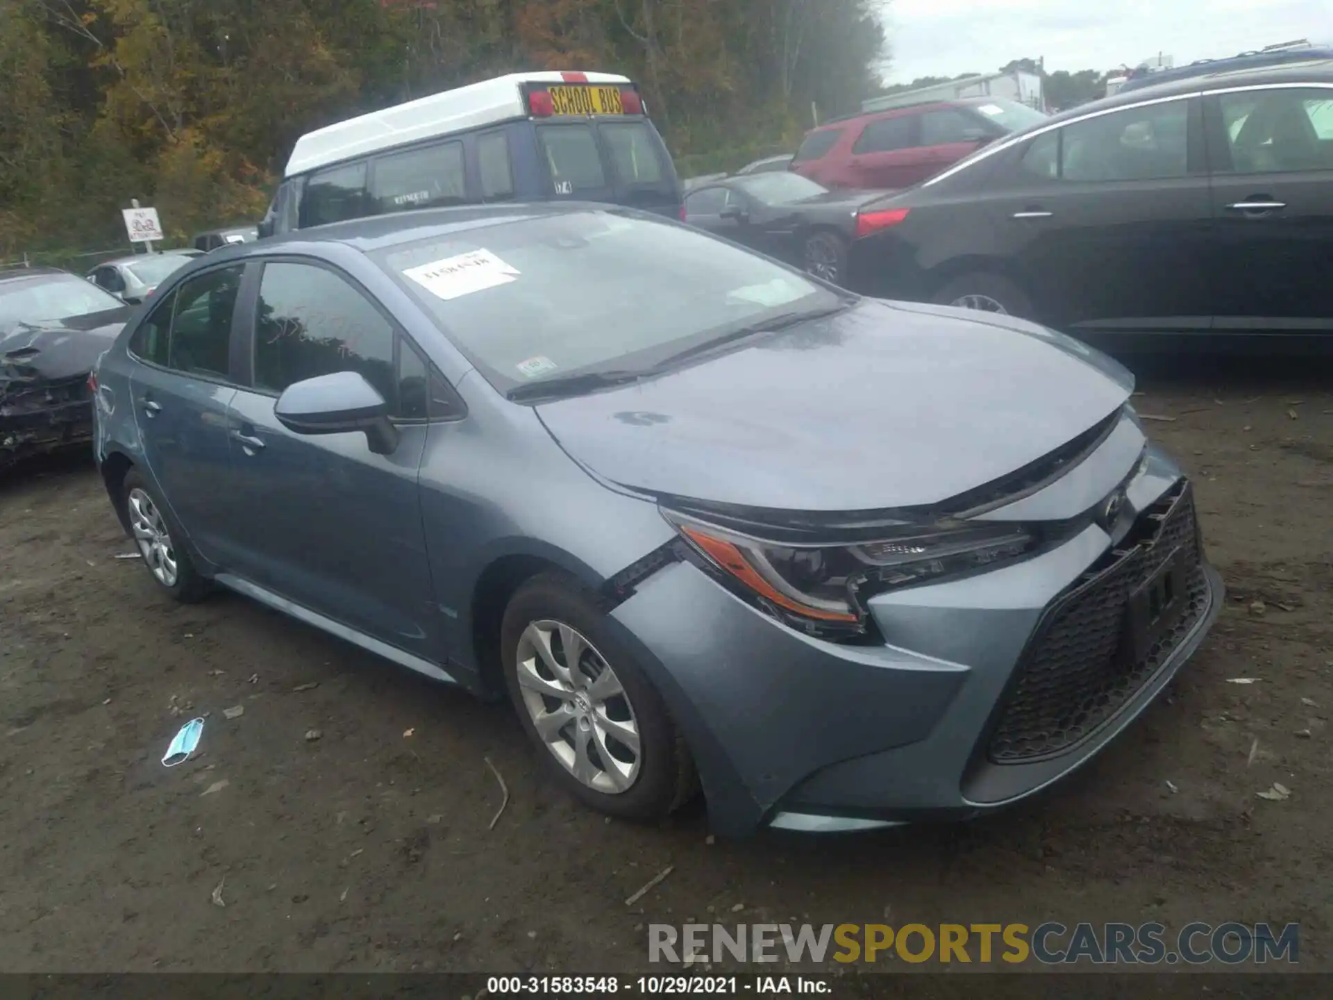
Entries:
[[861,207],[882,195],[833,192],[785,171],[752,173],[690,191],[685,196],[685,221],[841,284],[848,244],[861,224]]

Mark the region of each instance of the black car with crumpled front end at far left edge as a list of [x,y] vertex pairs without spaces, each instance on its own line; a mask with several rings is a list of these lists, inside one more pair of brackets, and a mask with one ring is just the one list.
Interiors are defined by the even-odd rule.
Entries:
[[128,316],[65,271],[0,271],[0,471],[92,437],[88,372]]

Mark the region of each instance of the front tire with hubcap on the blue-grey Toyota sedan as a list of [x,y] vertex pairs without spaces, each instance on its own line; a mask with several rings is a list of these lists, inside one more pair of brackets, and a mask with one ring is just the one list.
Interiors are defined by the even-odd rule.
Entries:
[[[580,644],[573,672],[565,659],[572,641]],[[596,595],[564,573],[535,576],[505,608],[500,651],[523,728],[571,795],[632,820],[663,819],[693,797],[685,740],[647,673],[612,637]]]

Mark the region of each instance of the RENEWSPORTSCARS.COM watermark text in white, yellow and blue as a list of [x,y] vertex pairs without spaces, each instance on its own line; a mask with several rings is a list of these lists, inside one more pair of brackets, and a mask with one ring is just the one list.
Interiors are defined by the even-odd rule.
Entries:
[[1300,960],[1300,925],[1186,924],[649,924],[649,961],[1266,964]]

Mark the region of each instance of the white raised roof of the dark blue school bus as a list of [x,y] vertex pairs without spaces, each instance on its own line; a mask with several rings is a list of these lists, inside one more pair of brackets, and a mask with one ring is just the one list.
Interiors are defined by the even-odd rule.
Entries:
[[[592,84],[629,83],[629,77],[616,73],[581,76]],[[325,125],[296,140],[283,176],[305,173],[339,160],[375,153],[419,139],[433,139],[465,128],[527,117],[528,108],[520,91],[520,84],[525,83],[559,84],[585,83],[585,80],[569,80],[560,72],[509,73]]]

